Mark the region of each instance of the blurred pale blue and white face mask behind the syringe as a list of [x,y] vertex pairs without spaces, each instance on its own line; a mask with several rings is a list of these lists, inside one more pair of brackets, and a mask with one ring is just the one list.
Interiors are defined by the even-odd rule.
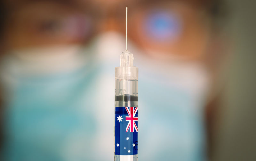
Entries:
[[[94,49],[80,52],[81,65],[76,68],[43,74],[38,67],[41,73],[36,75],[4,70],[7,74],[2,74],[6,78],[2,80],[7,80],[8,88],[5,160],[113,159],[114,67],[124,49],[122,42],[116,33],[102,35],[93,43]],[[203,107],[208,85],[204,69],[195,64],[162,63],[136,49],[131,51],[140,73],[139,157],[204,160]],[[84,53],[91,55],[84,57]]]

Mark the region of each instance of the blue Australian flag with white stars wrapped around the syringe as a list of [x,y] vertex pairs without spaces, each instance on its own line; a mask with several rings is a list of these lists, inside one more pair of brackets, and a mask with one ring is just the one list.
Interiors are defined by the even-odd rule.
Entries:
[[115,154],[138,154],[138,107],[116,107]]

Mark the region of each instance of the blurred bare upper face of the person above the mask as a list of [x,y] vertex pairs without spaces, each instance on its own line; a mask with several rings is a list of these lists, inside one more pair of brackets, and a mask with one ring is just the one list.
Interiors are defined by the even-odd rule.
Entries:
[[148,52],[152,57],[203,57],[209,43],[207,17],[202,8],[181,1],[32,1],[12,8],[6,42],[10,49],[86,45],[109,30],[125,34],[126,4],[128,37],[153,51]]

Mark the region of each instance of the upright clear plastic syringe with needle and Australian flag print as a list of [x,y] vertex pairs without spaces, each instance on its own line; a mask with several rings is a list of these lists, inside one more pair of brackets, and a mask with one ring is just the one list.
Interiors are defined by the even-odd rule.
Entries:
[[138,161],[138,71],[126,50],[115,68],[115,161]]

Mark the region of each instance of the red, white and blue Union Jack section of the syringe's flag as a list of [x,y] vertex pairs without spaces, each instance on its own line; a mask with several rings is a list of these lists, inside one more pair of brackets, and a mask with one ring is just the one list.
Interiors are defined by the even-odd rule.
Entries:
[[129,121],[127,127],[126,127],[126,132],[128,132],[129,128],[130,128],[130,132],[133,132],[133,129],[136,130],[136,132],[138,132],[138,127],[135,123],[135,121],[138,121],[138,117],[135,117],[135,114],[138,111],[138,107],[125,107],[127,113],[129,116],[125,117],[125,121]]

